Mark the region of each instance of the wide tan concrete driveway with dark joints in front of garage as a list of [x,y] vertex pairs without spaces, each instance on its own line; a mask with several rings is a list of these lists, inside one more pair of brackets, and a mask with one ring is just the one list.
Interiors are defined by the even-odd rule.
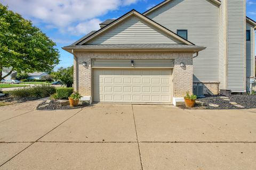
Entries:
[[256,109],[0,107],[0,169],[255,169]]

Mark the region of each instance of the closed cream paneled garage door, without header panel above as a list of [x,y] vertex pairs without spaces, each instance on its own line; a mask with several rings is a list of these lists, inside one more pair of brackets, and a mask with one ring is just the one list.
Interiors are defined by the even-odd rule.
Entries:
[[172,69],[94,69],[94,101],[172,103],[172,72]]

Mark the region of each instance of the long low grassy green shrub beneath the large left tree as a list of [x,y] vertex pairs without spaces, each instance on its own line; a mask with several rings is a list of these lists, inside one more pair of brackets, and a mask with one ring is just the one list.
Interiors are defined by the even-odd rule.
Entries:
[[38,85],[33,87],[24,87],[17,90],[8,91],[8,93],[14,98],[43,98],[49,97],[56,92],[55,87],[49,85]]

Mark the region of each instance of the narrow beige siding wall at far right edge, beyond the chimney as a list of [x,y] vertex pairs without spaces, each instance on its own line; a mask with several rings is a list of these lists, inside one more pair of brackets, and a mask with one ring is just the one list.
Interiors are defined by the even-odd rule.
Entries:
[[246,24],[246,30],[251,31],[251,40],[246,41],[246,77],[255,76],[255,54],[254,54],[254,29],[249,23]]

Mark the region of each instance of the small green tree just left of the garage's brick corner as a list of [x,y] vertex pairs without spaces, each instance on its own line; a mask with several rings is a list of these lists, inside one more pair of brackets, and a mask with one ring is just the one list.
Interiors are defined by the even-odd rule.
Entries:
[[59,80],[67,87],[72,87],[73,84],[73,73],[74,73],[74,66],[67,67],[66,69],[60,67],[57,72],[52,72],[51,75],[54,80]]

